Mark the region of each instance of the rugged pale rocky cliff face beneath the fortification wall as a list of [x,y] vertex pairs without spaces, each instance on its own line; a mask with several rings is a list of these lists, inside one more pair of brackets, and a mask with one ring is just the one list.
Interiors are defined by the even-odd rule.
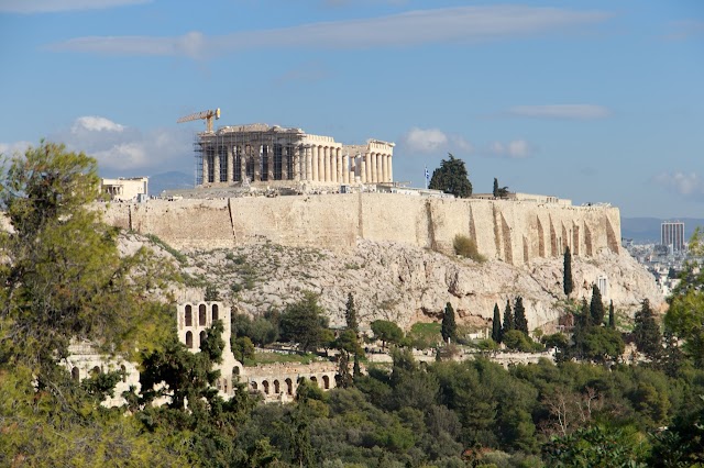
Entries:
[[[363,324],[392,320],[408,328],[439,320],[452,303],[459,322],[488,324],[494,304],[524,298],[529,327],[550,328],[564,311],[562,258],[536,259],[528,266],[501,260],[475,263],[394,242],[359,241],[348,253],[287,247],[273,243],[189,253],[184,272],[218,287],[220,296],[251,314],[282,310],[304,290],[320,293],[331,325],[344,324],[344,303],[354,294]],[[654,279],[628,254],[608,250],[572,263],[573,297],[591,298],[598,277],[606,278],[604,300],[632,315],[642,299],[662,303]],[[186,288],[179,300],[201,300],[202,288]]]

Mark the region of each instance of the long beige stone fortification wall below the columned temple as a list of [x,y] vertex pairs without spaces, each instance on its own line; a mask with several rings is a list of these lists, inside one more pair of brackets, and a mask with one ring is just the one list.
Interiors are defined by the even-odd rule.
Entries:
[[179,249],[273,242],[346,250],[356,238],[452,252],[455,235],[475,239],[488,258],[524,265],[602,249],[619,253],[620,215],[612,207],[565,207],[516,200],[455,200],[398,193],[150,200],[101,205],[105,220],[155,234]]

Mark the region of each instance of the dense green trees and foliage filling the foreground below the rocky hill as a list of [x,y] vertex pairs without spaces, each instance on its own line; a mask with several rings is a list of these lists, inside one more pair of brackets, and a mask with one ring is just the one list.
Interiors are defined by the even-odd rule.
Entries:
[[[323,392],[304,379],[295,402],[264,405],[238,383],[234,398],[224,401],[213,389],[222,324],[208,330],[196,353],[178,341],[173,314],[151,293],[163,285],[160,275],[167,266],[145,250],[120,257],[116,232],[85,208],[96,193],[95,161],[42,144],[9,164],[0,187],[13,226],[0,237],[1,466],[704,463],[704,275],[695,265],[682,272],[670,299],[664,336],[642,303],[632,337],[649,359],[629,364],[622,358],[624,341],[614,321],[603,323],[603,303],[595,311],[602,302],[597,289],[591,303],[570,310],[571,336],[543,337],[559,348],[557,364],[542,359],[504,368],[479,356],[420,364],[395,323],[375,321],[373,333],[392,344],[393,363],[367,363],[365,374],[352,296],[344,307],[346,327],[329,338],[317,297],[304,293],[280,314],[234,315],[233,343],[244,355],[252,341],[276,339],[280,332],[304,349],[333,346],[338,388]],[[532,350],[539,345],[524,330],[519,299],[513,309],[506,302],[501,337],[506,347]],[[498,324],[498,305],[494,311]],[[447,323],[444,335],[452,330]],[[61,366],[74,337],[106,349],[140,348],[141,389],[124,394],[123,408],[100,405],[118,372],[77,381]]]

